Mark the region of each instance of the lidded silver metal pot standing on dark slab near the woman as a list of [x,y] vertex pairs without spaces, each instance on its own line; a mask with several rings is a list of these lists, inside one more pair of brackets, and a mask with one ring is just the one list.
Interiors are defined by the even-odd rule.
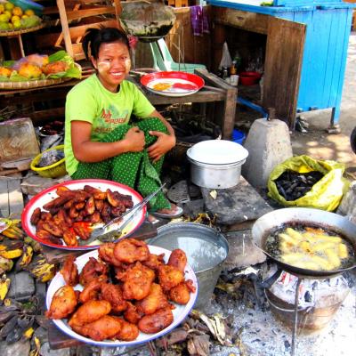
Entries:
[[248,151],[236,142],[208,140],[187,150],[187,156],[191,182],[199,187],[226,189],[239,183]]

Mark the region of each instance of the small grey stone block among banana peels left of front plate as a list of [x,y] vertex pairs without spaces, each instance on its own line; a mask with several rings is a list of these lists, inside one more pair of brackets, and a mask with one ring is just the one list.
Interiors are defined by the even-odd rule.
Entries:
[[28,271],[20,271],[19,273],[9,273],[11,279],[8,298],[16,299],[17,301],[26,301],[35,293],[35,282]]

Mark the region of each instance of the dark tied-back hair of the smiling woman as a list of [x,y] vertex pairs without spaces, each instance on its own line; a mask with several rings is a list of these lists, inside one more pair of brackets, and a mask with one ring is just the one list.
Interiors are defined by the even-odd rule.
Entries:
[[93,58],[97,59],[101,44],[107,44],[115,41],[126,44],[127,48],[130,48],[125,32],[119,30],[118,28],[88,28],[82,42],[85,58],[89,61],[89,56],[91,54]]

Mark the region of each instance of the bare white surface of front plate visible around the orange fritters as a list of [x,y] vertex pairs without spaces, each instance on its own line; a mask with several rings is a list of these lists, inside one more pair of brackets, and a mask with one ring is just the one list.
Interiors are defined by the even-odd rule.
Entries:
[[[156,254],[156,255],[165,254],[164,259],[165,259],[165,262],[167,263],[168,258],[171,255],[171,251],[166,250],[166,248],[150,246],[150,245],[149,245],[149,248],[150,248],[151,254]],[[85,266],[85,263],[87,263],[89,261],[90,257],[97,258],[98,250],[90,251],[85,255],[81,255],[81,256],[77,257],[75,263],[77,264],[77,269],[79,272],[82,271],[83,267]],[[154,340],[160,336],[166,335],[166,333],[168,333],[169,331],[176,328],[179,324],[182,323],[182,321],[185,319],[185,317],[190,313],[190,310],[193,308],[194,303],[196,302],[197,297],[198,297],[198,280],[197,280],[197,277],[196,277],[194,271],[192,270],[192,268],[190,267],[189,264],[186,265],[184,271],[185,271],[185,274],[184,274],[185,280],[191,279],[193,281],[193,286],[196,287],[197,290],[194,293],[190,293],[190,301],[187,304],[179,305],[179,304],[174,303],[175,309],[172,311],[173,315],[174,315],[173,323],[171,325],[169,325],[167,328],[159,331],[156,334],[144,334],[144,333],[140,332],[139,336],[137,336],[137,338],[134,341],[130,341],[130,342],[118,341],[118,340],[95,341],[88,337],[81,336],[81,335],[77,334],[75,331],[72,330],[72,328],[69,327],[67,320],[62,320],[62,319],[61,320],[53,320],[53,323],[57,328],[61,329],[61,331],[64,332],[65,334],[67,334],[68,336],[73,337],[79,341],[82,341],[85,344],[94,344],[94,345],[98,345],[98,346],[133,346],[136,344],[147,343],[150,340]],[[47,289],[47,295],[45,298],[47,310],[50,309],[54,293],[60,287],[63,287],[64,285],[65,285],[65,281],[64,281],[61,273],[58,272],[52,279],[52,281]],[[76,287],[74,287],[74,289],[82,290],[83,287],[81,285],[77,285]]]

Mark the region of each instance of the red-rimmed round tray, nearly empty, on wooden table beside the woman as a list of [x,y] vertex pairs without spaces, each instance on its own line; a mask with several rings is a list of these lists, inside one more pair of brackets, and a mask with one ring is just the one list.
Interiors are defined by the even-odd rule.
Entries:
[[165,71],[146,74],[141,84],[150,92],[164,96],[186,96],[197,93],[204,85],[204,79],[196,74],[179,71]]

